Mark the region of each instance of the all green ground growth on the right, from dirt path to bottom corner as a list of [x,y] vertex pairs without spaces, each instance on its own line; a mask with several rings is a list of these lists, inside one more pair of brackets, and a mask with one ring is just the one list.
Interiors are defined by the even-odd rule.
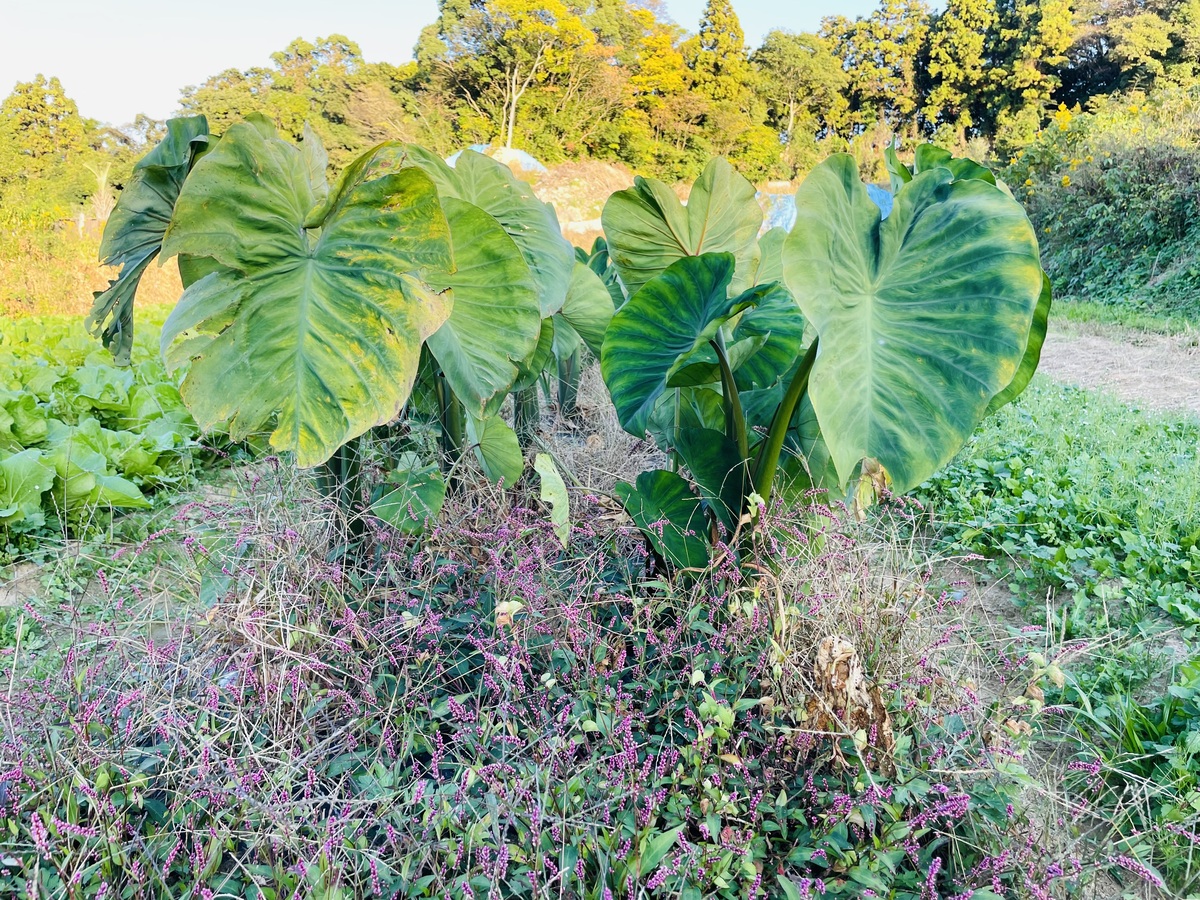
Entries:
[[1090,648],[1045,691],[1075,746],[1067,780],[1116,834],[1147,842],[1180,895],[1200,880],[1198,445],[1190,419],[1036,380],[924,497],[1028,620]]

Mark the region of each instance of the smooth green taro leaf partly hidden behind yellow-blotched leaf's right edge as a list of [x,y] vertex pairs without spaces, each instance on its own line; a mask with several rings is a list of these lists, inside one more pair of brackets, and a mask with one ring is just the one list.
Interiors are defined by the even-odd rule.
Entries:
[[456,269],[428,282],[454,295],[450,318],[430,338],[446,383],[475,416],[494,413],[541,335],[538,286],[512,239],[492,216],[444,197]]

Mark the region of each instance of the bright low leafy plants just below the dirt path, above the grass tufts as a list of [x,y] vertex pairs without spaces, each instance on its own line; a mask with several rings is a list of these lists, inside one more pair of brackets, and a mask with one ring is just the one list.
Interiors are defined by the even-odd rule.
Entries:
[[[940,527],[1026,596],[1069,598],[1068,634],[1152,607],[1200,623],[1200,424],[1036,380],[926,485]],[[1040,602],[1040,601],[1038,601]]]

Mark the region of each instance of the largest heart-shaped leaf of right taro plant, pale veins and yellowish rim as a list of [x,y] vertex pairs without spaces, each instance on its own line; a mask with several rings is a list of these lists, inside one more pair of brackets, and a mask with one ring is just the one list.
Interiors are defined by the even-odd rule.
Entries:
[[820,337],[809,395],[841,480],[877,460],[902,493],[950,460],[1012,384],[1042,268],[1020,204],[982,180],[917,175],[880,210],[852,157],[796,194],[787,284]]

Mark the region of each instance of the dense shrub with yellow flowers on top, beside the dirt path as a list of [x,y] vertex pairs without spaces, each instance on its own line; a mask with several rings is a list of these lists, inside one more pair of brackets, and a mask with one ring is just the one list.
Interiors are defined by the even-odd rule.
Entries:
[[1198,100],[1160,91],[1060,108],[1006,179],[1038,228],[1056,290],[1200,314]]

